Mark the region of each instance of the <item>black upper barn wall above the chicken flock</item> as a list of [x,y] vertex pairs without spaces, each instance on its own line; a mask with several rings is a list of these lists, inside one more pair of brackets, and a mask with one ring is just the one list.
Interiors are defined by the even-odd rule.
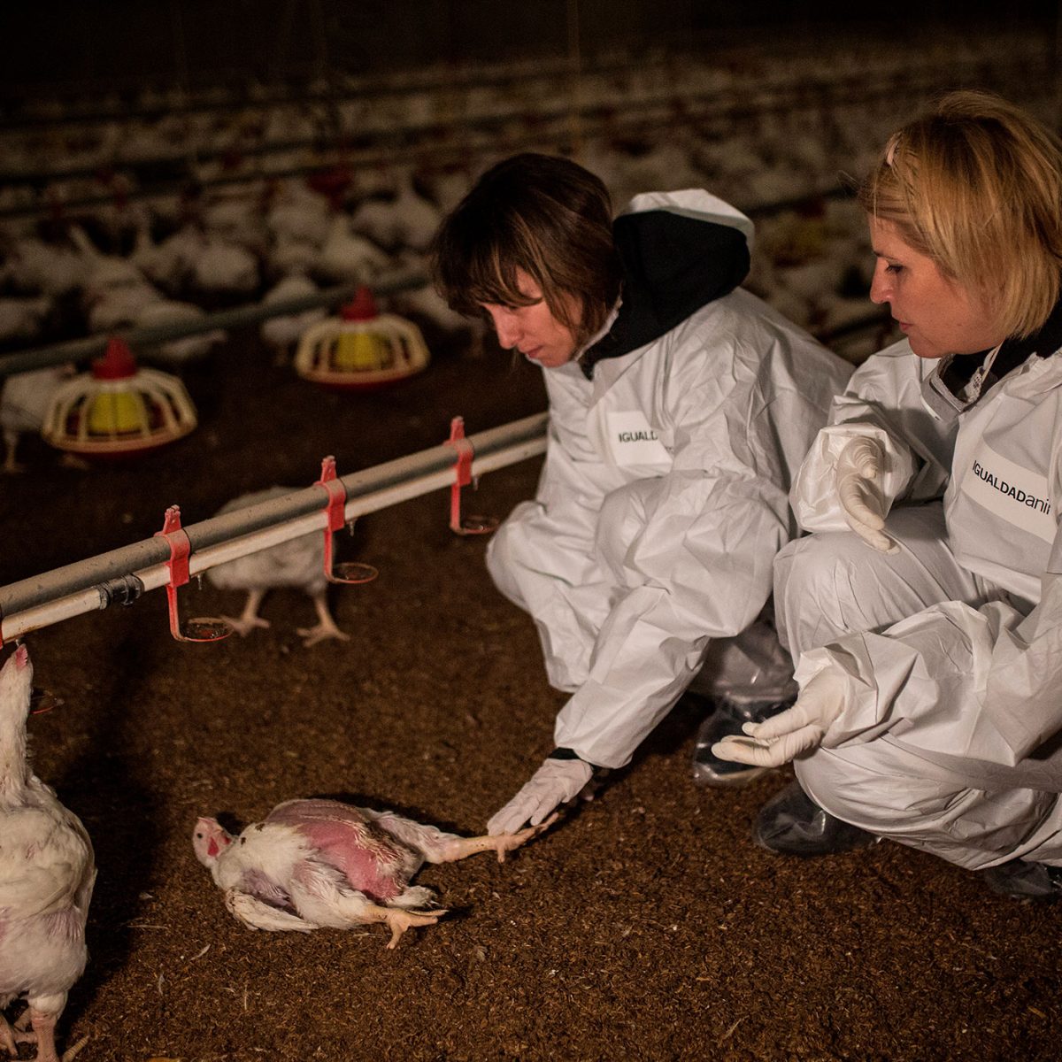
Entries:
[[[823,29],[903,40],[1026,22],[1052,37],[1057,0],[39,0],[0,13],[5,95],[198,87],[380,74],[610,50],[813,39]],[[781,34],[781,37],[780,37]]]

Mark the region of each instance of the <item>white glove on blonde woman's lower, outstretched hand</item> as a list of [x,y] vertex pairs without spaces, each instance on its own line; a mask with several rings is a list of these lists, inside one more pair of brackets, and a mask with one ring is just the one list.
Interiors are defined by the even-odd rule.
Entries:
[[781,767],[816,748],[844,708],[844,679],[832,668],[820,671],[801,690],[796,703],[761,723],[746,723],[744,735],[731,734],[712,747],[720,759],[753,767]]

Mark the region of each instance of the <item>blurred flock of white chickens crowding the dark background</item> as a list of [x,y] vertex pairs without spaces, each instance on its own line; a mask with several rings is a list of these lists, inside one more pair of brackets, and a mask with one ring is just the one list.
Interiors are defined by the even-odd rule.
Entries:
[[[1006,61],[1021,48],[1020,39],[994,37],[991,55]],[[964,55],[954,41],[935,61],[906,50],[852,48],[832,54],[828,70],[810,56],[758,65],[743,56],[744,69],[688,56],[622,72],[587,69],[580,99],[594,117],[581,125],[573,155],[604,179],[617,209],[647,189],[697,186],[751,211],[757,243],[747,286],[795,323],[828,336],[870,311],[866,225],[851,200],[838,196],[839,178],[863,172],[897,109],[915,104],[847,88],[830,95],[825,86],[856,78],[869,86],[905,85],[915,70],[925,79],[936,70],[943,86],[949,65],[961,76],[964,62],[987,59],[970,49]],[[807,85],[816,85],[815,93]],[[515,150],[572,150],[566,91],[565,79],[529,68],[518,79],[458,96],[444,81],[375,98],[341,93],[329,110],[312,101],[256,105],[251,91],[243,108],[193,108],[150,121],[116,116],[88,125],[49,114],[41,130],[0,131],[0,170],[47,174],[81,167],[105,175],[57,175],[45,182],[44,193],[28,185],[5,188],[0,177],[0,211],[6,208],[0,216],[0,349],[47,341],[61,324],[98,333],[176,319],[190,306],[254,304],[289,278],[320,288],[423,274],[440,218],[478,172]],[[735,100],[741,106],[727,109]],[[158,91],[147,90],[142,103],[160,106]],[[376,153],[377,161],[363,165],[345,161],[336,149],[329,154],[328,145],[346,136],[393,136],[430,126],[451,110],[458,126],[468,123],[458,131],[467,137],[460,151],[444,140],[438,157],[396,152],[380,161]],[[482,121],[495,123],[498,135],[477,139]],[[187,162],[190,153],[194,164]],[[159,160],[192,166],[191,186],[145,190],[140,198],[136,167]],[[308,162],[314,168],[305,176],[294,172]],[[114,202],[100,203],[108,192]],[[44,211],[48,203],[79,199],[97,204],[54,217]],[[41,206],[36,215],[17,212],[34,203]],[[408,312],[435,335],[463,335],[468,324],[431,295],[396,296],[382,309]],[[161,303],[174,309],[168,314]],[[268,340],[278,353],[291,346],[288,325]],[[167,353],[178,362],[183,356],[137,352],[149,362],[165,361]]]

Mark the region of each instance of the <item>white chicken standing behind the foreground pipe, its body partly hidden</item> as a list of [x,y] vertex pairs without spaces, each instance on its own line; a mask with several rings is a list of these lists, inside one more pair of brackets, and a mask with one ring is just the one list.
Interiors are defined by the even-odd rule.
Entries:
[[[290,494],[292,489],[272,486],[254,494],[244,494],[234,498],[218,510],[217,515],[246,509],[261,501],[280,498]],[[267,592],[280,586],[294,586],[305,590],[312,599],[316,611],[318,622],[311,628],[298,628],[297,632],[304,639],[303,645],[309,648],[325,638],[339,638],[348,641],[350,635],[344,634],[332,619],[328,611],[326,592],[328,581],[325,578],[324,538],[322,532],[312,531],[309,534],[282,542],[269,549],[249,553],[246,556],[226,561],[207,571],[207,578],[223,590],[246,590],[247,600],[243,612],[238,618],[223,617],[226,622],[246,636],[256,627],[269,627],[269,620],[258,615],[258,607]]]

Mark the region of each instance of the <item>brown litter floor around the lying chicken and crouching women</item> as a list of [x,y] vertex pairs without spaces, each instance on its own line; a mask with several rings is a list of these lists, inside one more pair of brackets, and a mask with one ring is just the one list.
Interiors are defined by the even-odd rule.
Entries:
[[[312,482],[544,408],[537,371],[440,354],[391,391],[298,380],[250,332],[189,376],[202,426],[153,457],[74,472],[29,441],[0,491],[4,584],[148,537],[272,484]],[[503,516],[538,461],[483,479]],[[699,719],[672,713],[600,799],[517,853],[425,869],[451,914],[386,950],[380,927],[252,932],[190,843],[200,815],[245,824],[341,795],[463,834],[551,748],[562,698],[530,620],[493,588],[483,538],[447,529],[446,492],[360,520],[343,548],[379,579],[332,595],[348,643],[303,648],[296,592],[268,631],[185,646],[145,595],[28,638],[38,773],[84,820],[99,880],[91,958],[61,1033],[83,1062],[181,1059],[975,1059],[1059,1057],[1062,910],[883,843],[815,861],[753,846],[778,773],[698,789]],[[187,616],[238,610],[205,585]],[[32,1051],[23,1049],[23,1056]]]

